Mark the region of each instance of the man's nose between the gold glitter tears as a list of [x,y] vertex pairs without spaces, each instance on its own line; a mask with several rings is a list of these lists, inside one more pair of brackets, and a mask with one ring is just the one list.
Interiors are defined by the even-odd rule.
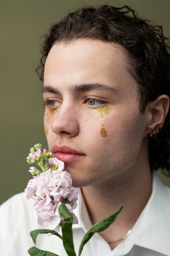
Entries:
[[70,106],[60,106],[51,120],[51,129],[57,135],[75,137],[79,132],[76,110]]

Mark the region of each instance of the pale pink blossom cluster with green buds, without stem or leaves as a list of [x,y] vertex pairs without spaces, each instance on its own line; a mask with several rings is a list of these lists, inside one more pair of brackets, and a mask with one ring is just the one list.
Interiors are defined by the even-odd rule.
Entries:
[[27,162],[37,164],[41,170],[32,166],[29,172],[33,179],[29,180],[25,192],[26,198],[33,200],[33,208],[38,215],[38,223],[45,229],[58,232],[63,218],[59,213],[59,206],[65,204],[73,216],[73,224],[78,220],[73,209],[77,207],[78,189],[72,188],[71,175],[64,171],[64,162],[52,153],[42,150],[41,144],[36,144],[30,149]]

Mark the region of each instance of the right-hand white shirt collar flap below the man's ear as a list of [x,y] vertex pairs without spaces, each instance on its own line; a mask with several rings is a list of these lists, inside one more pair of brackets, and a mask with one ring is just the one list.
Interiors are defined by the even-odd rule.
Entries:
[[152,195],[137,223],[135,244],[170,256],[170,188],[153,173]]

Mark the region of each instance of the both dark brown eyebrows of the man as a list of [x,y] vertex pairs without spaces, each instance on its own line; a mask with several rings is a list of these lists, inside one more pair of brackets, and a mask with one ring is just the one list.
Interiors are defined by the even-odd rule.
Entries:
[[[110,92],[121,92],[120,90],[113,88],[109,85],[106,85],[104,83],[88,83],[88,84],[80,84],[80,85],[71,85],[68,88],[68,91],[71,92],[72,94],[76,93],[76,92],[86,92],[86,91],[90,91],[90,90],[100,90],[100,91],[110,91]],[[45,92],[51,92],[54,94],[61,94],[59,90],[57,90],[56,88],[52,87],[52,86],[48,86],[45,85],[42,89],[42,93]]]

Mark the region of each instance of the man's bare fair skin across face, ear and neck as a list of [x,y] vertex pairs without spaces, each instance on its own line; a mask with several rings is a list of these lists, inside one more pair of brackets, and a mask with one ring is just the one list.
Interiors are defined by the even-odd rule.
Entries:
[[[91,84],[106,86],[74,90]],[[44,101],[55,103],[46,105],[44,114],[49,150],[64,145],[79,152],[73,162],[65,163],[65,170],[73,186],[81,188],[93,224],[124,205],[114,226],[101,234],[108,242],[110,237],[119,240],[149,200],[152,177],[147,133],[162,122],[157,119],[162,112],[151,102],[141,114],[126,49],[114,43],[84,38],[54,44],[44,69],[44,87],[48,86],[54,90],[43,94]],[[57,109],[50,123],[49,108]]]

